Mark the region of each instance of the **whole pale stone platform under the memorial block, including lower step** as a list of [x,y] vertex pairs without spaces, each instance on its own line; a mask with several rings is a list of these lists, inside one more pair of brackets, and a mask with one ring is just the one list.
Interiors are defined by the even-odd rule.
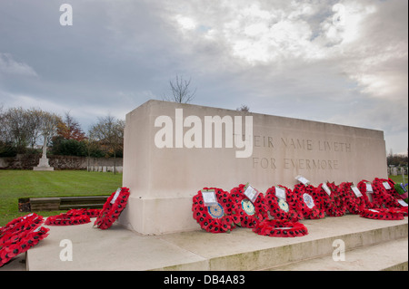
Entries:
[[[302,220],[309,234],[295,238],[259,236],[248,228],[235,228],[230,234],[198,229],[141,236],[118,223],[100,230],[92,220],[78,226],[49,226],[50,236],[27,251],[26,269],[368,271],[407,270],[408,264],[407,217],[399,221],[354,215]],[[60,260],[64,239],[73,244],[73,261]],[[333,259],[334,240],[344,242],[344,261]]]

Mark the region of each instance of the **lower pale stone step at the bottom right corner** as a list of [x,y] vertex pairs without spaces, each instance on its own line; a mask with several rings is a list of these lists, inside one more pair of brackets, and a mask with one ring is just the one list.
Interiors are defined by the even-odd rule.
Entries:
[[314,259],[278,265],[264,271],[407,271],[408,238],[363,246]]

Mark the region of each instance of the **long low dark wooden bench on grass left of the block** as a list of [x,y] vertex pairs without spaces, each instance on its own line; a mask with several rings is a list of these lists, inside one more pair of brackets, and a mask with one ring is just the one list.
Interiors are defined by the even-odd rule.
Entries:
[[[30,197],[29,206],[19,206],[20,211],[57,211],[72,208],[102,208],[109,196],[86,196],[86,197]],[[26,199],[19,199],[25,201]],[[27,210],[29,209],[29,210]]]

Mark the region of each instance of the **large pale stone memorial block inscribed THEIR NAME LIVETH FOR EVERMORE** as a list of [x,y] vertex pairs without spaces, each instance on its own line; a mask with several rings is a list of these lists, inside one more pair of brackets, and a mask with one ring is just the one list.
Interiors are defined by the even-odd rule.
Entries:
[[141,234],[198,229],[192,197],[249,182],[265,192],[387,178],[384,132],[167,101],[147,101],[126,115],[119,221]]

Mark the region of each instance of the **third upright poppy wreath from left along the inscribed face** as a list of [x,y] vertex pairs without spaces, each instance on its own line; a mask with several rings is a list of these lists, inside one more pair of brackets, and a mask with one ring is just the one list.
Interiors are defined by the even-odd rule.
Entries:
[[[285,196],[289,196],[291,194],[289,188],[285,188],[284,186],[280,187],[285,190]],[[296,222],[303,218],[296,210],[290,207],[290,205],[284,201],[283,198],[275,195],[275,186],[267,189],[264,198],[270,215],[275,219],[285,219]]]

